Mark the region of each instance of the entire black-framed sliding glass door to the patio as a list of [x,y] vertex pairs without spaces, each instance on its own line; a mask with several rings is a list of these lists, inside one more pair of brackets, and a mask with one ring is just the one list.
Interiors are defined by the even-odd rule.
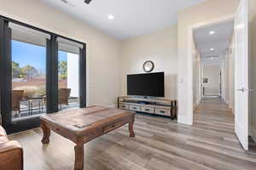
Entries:
[[85,44],[0,16],[0,111],[15,133],[86,106]]

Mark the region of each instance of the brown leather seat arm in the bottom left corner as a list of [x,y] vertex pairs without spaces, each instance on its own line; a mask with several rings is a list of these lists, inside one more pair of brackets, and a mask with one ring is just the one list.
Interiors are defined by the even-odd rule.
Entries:
[[23,150],[18,142],[0,144],[0,169],[23,170]]

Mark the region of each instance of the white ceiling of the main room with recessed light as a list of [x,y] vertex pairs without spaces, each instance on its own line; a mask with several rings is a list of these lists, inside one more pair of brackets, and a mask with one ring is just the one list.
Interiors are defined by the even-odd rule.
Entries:
[[[41,0],[86,24],[124,40],[177,23],[177,11],[205,0]],[[108,20],[108,14],[115,19]]]

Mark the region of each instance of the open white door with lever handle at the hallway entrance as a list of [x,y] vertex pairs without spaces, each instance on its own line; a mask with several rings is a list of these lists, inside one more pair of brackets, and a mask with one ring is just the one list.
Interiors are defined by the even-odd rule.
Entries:
[[241,0],[235,17],[235,131],[248,150],[248,0]]

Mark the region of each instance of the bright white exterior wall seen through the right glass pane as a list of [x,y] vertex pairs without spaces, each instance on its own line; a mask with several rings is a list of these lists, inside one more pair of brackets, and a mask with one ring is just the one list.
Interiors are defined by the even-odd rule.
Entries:
[[67,53],[67,88],[70,96],[79,97],[79,54]]

